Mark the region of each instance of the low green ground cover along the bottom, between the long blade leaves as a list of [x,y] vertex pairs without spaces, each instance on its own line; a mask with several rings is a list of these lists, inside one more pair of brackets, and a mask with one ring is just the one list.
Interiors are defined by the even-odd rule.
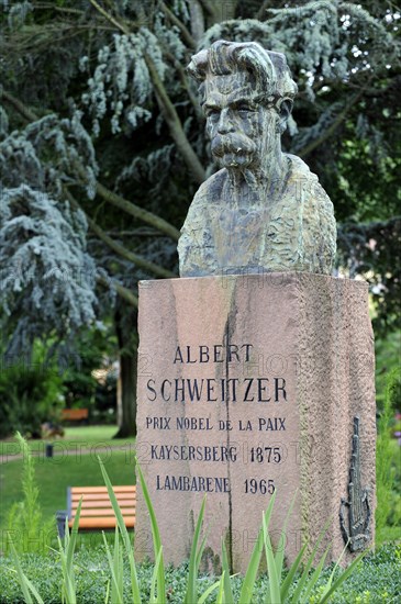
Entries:
[[[125,558],[125,557],[124,557]],[[380,551],[368,555],[355,569],[353,574],[341,585],[338,592],[334,594],[332,604],[398,604],[401,597],[400,586],[400,561],[401,549],[397,546],[385,546]],[[44,602],[62,604],[60,599],[60,563],[56,556],[25,556],[21,562],[26,575],[33,581]],[[22,602],[21,590],[16,584],[14,562],[8,558],[0,557],[0,601],[2,604],[15,604]],[[124,563],[124,604],[133,602],[130,589],[130,569],[127,561]],[[108,569],[104,548],[80,549],[74,559],[74,569],[77,580],[77,602],[79,604],[93,604],[105,601],[108,583],[110,581],[110,571]],[[309,604],[320,602],[321,586],[328,581],[332,572],[328,567],[322,572]],[[143,602],[149,602],[149,588],[153,573],[153,566],[148,563],[137,564],[137,577],[140,582],[140,592]],[[166,601],[169,604],[182,604],[186,595],[188,582],[188,564],[181,564],[177,569],[168,567],[165,571],[166,580]],[[298,578],[296,578],[294,583]],[[209,585],[214,583],[213,575],[202,575],[198,580],[199,595],[203,593]],[[240,602],[240,589],[243,583],[241,575],[231,578],[233,588],[233,601]],[[293,595],[296,585],[290,588],[289,600]],[[252,596],[253,604],[263,604],[269,593],[268,578],[263,574],[255,583]],[[300,600],[297,600],[300,602]],[[154,602],[154,601],[153,601]],[[205,604],[216,602],[216,594],[213,593],[207,600]],[[224,600],[227,602],[227,600]]]

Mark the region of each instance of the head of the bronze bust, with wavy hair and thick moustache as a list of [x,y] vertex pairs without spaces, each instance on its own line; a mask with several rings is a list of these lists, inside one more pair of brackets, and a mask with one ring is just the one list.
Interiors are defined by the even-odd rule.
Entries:
[[285,55],[255,42],[220,40],[192,56],[213,156],[231,169],[257,169],[280,150],[297,85]]

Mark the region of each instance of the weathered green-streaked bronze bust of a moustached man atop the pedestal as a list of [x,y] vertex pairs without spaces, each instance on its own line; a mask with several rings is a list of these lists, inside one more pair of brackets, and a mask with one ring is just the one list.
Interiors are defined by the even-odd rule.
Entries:
[[331,273],[333,204],[308,166],[281,150],[297,85],[285,55],[218,41],[192,57],[221,169],[196,193],[178,243],[181,277]]

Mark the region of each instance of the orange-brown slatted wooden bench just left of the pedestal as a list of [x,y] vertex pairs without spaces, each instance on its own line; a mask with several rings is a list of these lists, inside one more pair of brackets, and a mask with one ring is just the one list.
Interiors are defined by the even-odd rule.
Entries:
[[[126,528],[135,526],[136,486],[113,486]],[[77,507],[82,497],[78,530],[114,529],[116,518],[105,486],[68,486],[68,511],[57,512],[57,528],[60,537],[65,535],[65,522],[73,528]]]

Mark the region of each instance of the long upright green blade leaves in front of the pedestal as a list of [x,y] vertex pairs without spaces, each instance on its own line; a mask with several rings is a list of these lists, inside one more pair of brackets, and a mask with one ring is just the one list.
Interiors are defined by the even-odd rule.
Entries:
[[[132,593],[131,602],[133,602],[134,604],[142,604],[144,600],[141,595],[135,559],[134,559],[134,551],[132,548],[130,534],[125,527],[108,473],[104,469],[102,461],[101,460],[99,461],[100,461],[103,479],[108,488],[110,501],[112,503],[112,506],[116,516],[116,521],[118,521],[118,528],[115,529],[113,552],[111,552],[110,547],[104,540],[107,558],[109,562],[109,570],[111,574],[111,579],[109,581],[109,585],[105,594],[105,604],[109,604],[109,603],[121,604],[121,602],[126,601],[124,600],[124,594],[123,594],[123,585],[124,585],[123,553],[127,556],[129,564],[130,564],[130,579],[131,579],[131,593]],[[155,512],[149,497],[149,493],[147,491],[147,486],[140,467],[137,467],[137,477],[141,483],[141,488],[143,490],[144,500],[151,517],[153,545],[154,545],[155,566],[154,566],[152,580],[151,580],[151,594],[149,594],[148,604],[167,604],[166,574],[165,574],[164,558],[163,558],[163,545],[161,545],[159,529],[157,526]],[[269,522],[272,514],[275,499],[276,499],[276,493],[274,493],[274,495],[271,496],[268,508],[263,515],[263,525],[258,534],[258,539],[255,544],[254,550],[250,556],[250,561],[249,561],[249,564],[244,578],[244,582],[242,585],[242,591],[237,601],[238,604],[240,603],[252,604],[253,602],[253,593],[255,589],[256,578],[260,566],[260,559],[261,559],[263,552],[265,552],[265,556],[266,556],[267,572],[269,577],[269,592],[266,594],[266,599],[265,599],[266,604],[283,604],[285,602],[290,602],[291,604],[298,604],[298,603],[304,604],[309,602],[309,599],[312,595],[313,589],[315,588],[318,580],[322,575],[328,548],[320,559],[315,570],[311,572],[311,569],[326,527],[321,533],[321,536],[318,539],[318,543],[313,548],[313,551],[307,557],[305,560],[304,560],[304,555],[307,550],[307,544],[301,548],[301,551],[299,552],[297,559],[294,560],[291,568],[289,569],[287,577],[282,580],[283,555],[285,555],[283,544],[285,544],[285,537],[286,537],[286,530],[287,530],[287,523],[292,512],[294,500],[290,505],[288,515],[282,526],[277,551],[274,553],[270,536],[268,533],[268,527],[269,527]],[[202,558],[202,553],[205,545],[205,537],[201,539],[201,528],[203,524],[204,506],[205,506],[205,501],[203,500],[200,514],[198,517],[196,530],[194,530],[192,547],[191,547],[191,553],[189,559],[189,572],[187,578],[187,590],[186,590],[183,604],[194,604],[194,603],[204,604],[208,601],[208,599],[213,594],[213,592],[216,592],[216,599],[215,599],[216,604],[223,604],[223,603],[235,604],[235,599],[233,595],[233,585],[231,581],[232,578],[230,575],[229,558],[227,558],[227,552],[226,552],[224,543],[222,544],[222,567],[223,567],[222,575],[215,583],[210,585],[200,596],[198,596],[198,572],[199,572],[199,567],[200,567],[200,562],[201,562],[201,558]],[[68,602],[68,604],[76,604],[77,602],[73,557],[74,557],[74,550],[76,546],[78,523],[79,523],[79,511],[77,512],[77,515],[74,522],[71,536],[69,536],[68,530],[66,530],[66,538],[64,544],[59,539],[59,555],[62,559],[62,570],[63,570],[63,588],[62,588],[63,601]],[[122,548],[120,544],[120,538],[122,539],[122,546],[123,546]],[[350,573],[354,571],[355,567],[358,564],[359,560],[364,555],[365,552],[358,556],[352,562],[352,564],[342,574],[339,574],[336,578],[336,580],[334,580],[334,577],[336,574],[336,570],[339,563],[339,560],[338,560],[337,564],[334,567],[333,571],[331,572],[326,583],[320,586],[318,599],[316,599],[316,595],[314,594],[314,602],[319,604],[324,604],[325,602],[327,602],[328,597],[335,592],[335,590],[337,590],[339,585],[350,575]],[[27,604],[34,604],[34,602],[37,602],[38,604],[43,604],[43,599],[37,593],[36,588],[23,573],[20,561],[18,559],[18,555],[14,549],[13,549],[13,559],[14,559],[14,566],[16,569],[16,575],[21,584],[21,588],[25,597],[25,602]],[[302,562],[303,562],[303,570],[299,575],[297,573],[299,572]],[[35,600],[33,600],[32,596]]]

